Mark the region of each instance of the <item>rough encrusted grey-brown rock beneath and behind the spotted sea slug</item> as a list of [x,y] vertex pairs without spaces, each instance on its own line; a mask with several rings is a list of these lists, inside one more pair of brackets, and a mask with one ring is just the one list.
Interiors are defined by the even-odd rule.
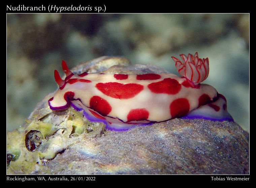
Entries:
[[[166,73],[107,56],[71,71]],[[52,111],[52,96],[38,103],[18,130],[7,132],[7,174],[249,174],[249,134],[235,122],[176,118],[106,131],[72,107]]]

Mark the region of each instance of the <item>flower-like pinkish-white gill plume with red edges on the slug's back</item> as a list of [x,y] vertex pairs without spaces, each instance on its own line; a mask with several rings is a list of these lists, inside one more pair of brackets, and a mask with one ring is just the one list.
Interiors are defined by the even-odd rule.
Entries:
[[171,57],[175,62],[175,67],[178,70],[179,74],[188,80],[192,81],[195,85],[198,85],[200,82],[204,81],[209,75],[209,59],[198,57],[198,53],[195,55],[188,56],[181,54],[181,61],[175,57]]

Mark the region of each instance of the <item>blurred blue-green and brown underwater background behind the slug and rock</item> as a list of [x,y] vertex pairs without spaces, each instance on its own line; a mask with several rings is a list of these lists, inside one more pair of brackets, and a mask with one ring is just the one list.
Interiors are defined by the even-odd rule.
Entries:
[[6,14],[7,130],[21,126],[57,89],[54,69],[100,56],[124,56],[178,75],[171,56],[209,57],[203,82],[227,98],[249,131],[249,14]]

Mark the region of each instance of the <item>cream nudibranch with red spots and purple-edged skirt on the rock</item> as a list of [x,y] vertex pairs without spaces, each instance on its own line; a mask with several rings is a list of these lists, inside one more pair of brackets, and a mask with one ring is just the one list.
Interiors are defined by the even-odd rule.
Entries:
[[233,121],[226,99],[207,84],[209,60],[198,53],[172,57],[182,76],[173,74],[96,74],[74,75],[62,61],[66,74],[62,80],[55,70],[59,89],[49,99],[52,110],[70,105],[91,122],[100,122],[108,130],[124,131],[173,118]]

